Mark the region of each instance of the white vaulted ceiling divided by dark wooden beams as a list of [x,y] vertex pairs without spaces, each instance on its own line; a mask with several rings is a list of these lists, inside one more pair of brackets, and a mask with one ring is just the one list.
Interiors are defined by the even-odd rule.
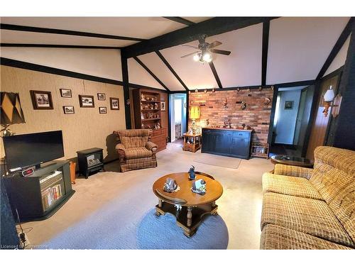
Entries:
[[[135,43],[195,26],[209,17],[168,19],[163,17],[4,17],[1,18],[1,44],[90,45],[123,48]],[[329,53],[342,34],[349,17],[281,17],[270,21],[266,84],[315,79]],[[9,27],[8,25],[10,24]],[[16,29],[26,26],[33,31]],[[41,28],[54,29],[53,31]],[[58,30],[58,31],[55,31]],[[69,32],[70,31],[70,32]],[[70,33],[75,32],[75,35]],[[89,33],[89,34],[86,34]],[[213,55],[213,64],[222,87],[261,85],[263,55],[263,23],[209,35],[206,41],[222,42],[218,49],[231,55]],[[188,45],[197,46],[194,40]],[[330,70],[344,65],[347,40]],[[175,45],[155,52],[129,58],[129,82],[171,91],[218,88],[212,68],[195,62],[192,57],[181,58],[193,48]],[[160,55],[158,55],[158,53]],[[163,57],[175,73],[163,62]],[[153,75],[143,66],[145,65]],[[180,77],[180,81],[176,77]],[[155,76],[155,77],[153,77]],[[162,84],[164,86],[162,86]],[[185,85],[185,86],[184,86]]]

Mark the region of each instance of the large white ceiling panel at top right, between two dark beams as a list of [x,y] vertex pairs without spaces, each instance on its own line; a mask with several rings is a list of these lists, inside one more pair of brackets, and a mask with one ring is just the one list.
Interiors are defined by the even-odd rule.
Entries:
[[349,18],[278,18],[270,23],[267,84],[315,79]]

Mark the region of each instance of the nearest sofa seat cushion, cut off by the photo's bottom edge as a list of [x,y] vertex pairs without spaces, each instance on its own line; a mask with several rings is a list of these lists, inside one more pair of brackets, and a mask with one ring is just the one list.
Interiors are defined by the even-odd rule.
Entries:
[[282,226],[268,224],[263,228],[260,238],[263,250],[346,250],[338,245],[307,233],[302,233]]

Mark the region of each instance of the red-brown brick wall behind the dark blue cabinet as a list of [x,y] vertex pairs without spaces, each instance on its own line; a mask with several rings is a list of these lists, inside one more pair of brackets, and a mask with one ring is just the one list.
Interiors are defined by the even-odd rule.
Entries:
[[[248,96],[249,95],[249,96]],[[264,99],[271,99],[270,104],[265,105]],[[219,127],[224,125],[224,121],[231,119],[231,127],[241,126],[245,123],[253,129],[253,140],[255,142],[267,143],[268,129],[273,102],[273,90],[271,88],[241,89],[239,92],[218,91],[215,92],[191,92],[189,95],[190,106],[200,105],[201,118],[197,120],[197,125],[205,126],[206,118],[209,118],[209,126]],[[224,99],[227,99],[226,108]],[[246,101],[246,109],[241,110],[241,101]],[[191,125],[189,120],[189,128]]]

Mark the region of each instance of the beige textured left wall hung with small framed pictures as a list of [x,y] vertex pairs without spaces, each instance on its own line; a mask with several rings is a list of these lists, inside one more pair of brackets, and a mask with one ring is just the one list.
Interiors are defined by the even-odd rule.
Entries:
[[[61,88],[72,89],[72,98],[62,98]],[[34,110],[30,90],[52,92],[54,109]],[[10,126],[16,134],[62,130],[64,159],[76,157],[77,150],[94,147],[104,149],[105,160],[116,159],[112,131],[126,128],[124,91],[121,86],[1,66],[1,91],[20,94],[26,123]],[[106,94],[105,101],[97,100],[98,92]],[[93,95],[94,108],[80,108],[79,94]],[[110,109],[109,97],[119,98],[119,111]],[[65,105],[74,106],[75,114],[64,114],[62,106]],[[100,114],[99,106],[106,106],[107,113]]]

